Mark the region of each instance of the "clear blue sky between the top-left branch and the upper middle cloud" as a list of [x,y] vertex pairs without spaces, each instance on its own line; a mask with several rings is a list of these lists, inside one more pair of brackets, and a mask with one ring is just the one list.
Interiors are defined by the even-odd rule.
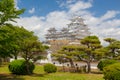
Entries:
[[[18,6],[25,8],[25,14],[23,16],[46,16],[49,12],[60,10],[56,0],[21,0]],[[29,10],[35,9],[33,14],[29,14]]]

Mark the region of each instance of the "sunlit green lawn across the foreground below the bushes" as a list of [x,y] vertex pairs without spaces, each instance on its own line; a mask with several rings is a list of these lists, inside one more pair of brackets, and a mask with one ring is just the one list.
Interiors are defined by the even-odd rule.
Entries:
[[57,72],[46,74],[41,66],[36,66],[32,75],[13,75],[7,66],[0,67],[0,80],[104,80],[102,74],[80,74]]

